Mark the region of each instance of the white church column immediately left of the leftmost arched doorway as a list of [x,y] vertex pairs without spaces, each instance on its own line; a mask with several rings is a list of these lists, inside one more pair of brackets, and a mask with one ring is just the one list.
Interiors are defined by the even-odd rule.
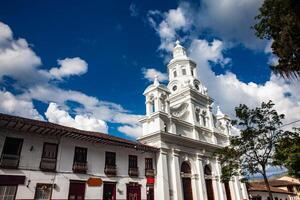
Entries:
[[182,183],[180,175],[179,151],[173,149],[172,152],[172,177],[173,177],[173,197],[174,200],[182,200]]

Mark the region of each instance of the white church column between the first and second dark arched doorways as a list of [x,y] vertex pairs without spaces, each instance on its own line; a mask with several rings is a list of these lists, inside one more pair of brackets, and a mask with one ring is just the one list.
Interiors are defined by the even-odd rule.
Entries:
[[206,185],[205,185],[204,172],[203,172],[203,162],[202,162],[201,155],[197,155],[196,169],[199,175],[197,180],[197,188],[198,188],[197,199],[207,200]]

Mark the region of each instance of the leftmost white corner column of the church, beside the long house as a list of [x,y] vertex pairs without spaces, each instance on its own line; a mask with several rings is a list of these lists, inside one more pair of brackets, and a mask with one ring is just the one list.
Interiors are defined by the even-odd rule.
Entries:
[[161,149],[157,158],[155,199],[161,199],[161,200],[170,199],[168,178],[169,178],[169,174],[168,174],[167,152]]

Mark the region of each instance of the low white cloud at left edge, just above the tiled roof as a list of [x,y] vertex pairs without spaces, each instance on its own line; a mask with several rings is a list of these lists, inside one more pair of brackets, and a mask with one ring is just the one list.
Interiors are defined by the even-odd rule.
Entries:
[[31,101],[26,101],[8,91],[0,91],[0,112],[43,120]]

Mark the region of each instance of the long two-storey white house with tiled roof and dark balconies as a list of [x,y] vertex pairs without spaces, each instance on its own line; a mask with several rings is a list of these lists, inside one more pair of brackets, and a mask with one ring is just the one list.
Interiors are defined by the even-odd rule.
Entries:
[[156,148],[0,114],[0,200],[149,199]]

